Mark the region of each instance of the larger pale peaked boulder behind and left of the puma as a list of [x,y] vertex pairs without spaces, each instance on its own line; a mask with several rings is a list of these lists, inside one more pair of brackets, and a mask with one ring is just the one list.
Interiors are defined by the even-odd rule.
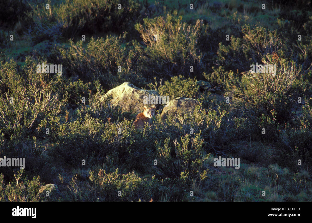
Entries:
[[[152,96],[159,96],[159,94],[155,90],[143,90],[134,86],[130,82],[125,82],[122,85],[119,85],[109,90],[104,96],[102,96],[101,100],[103,100],[104,97],[107,97],[110,94],[113,96],[113,105],[116,106],[119,104],[122,110],[129,111],[130,109],[132,109],[134,113],[142,112],[144,105],[148,108],[153,106],[153,104],[144,104],[144,102],[146,103],[146,101],[150,103],[150,100],[147,99],[144,101],[144,99],[150,99],[150,97]],[[155,104],[155,106],[156,110],[158,110],[160,104]]]

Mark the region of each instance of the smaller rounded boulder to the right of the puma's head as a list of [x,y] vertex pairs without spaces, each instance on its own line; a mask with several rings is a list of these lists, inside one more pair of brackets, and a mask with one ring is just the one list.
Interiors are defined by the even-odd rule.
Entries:
[[184,113],[191,113],[194,111],[195,106],[199,102],[193,98],[178,97],[167,103],[163,108],[163,112],[160,117],[166,119],[168,114],[175,114],[177,110],[181,110]]

